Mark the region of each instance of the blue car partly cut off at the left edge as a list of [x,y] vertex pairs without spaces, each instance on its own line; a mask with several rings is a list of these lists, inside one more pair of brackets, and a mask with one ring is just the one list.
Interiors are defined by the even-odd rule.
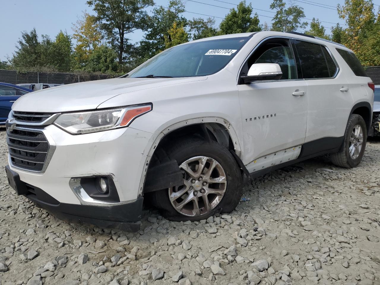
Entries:
[[21,86],[0,82],[0,126],[5,125],[14,101],[26,93],[33,92]]

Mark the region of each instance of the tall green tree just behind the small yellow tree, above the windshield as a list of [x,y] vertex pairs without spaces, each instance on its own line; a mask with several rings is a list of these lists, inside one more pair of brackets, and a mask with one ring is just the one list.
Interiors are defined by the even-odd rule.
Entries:
[[168,9],[163,6],[153,9],[149,29],[144,40],[140,41],[139,50],[142,57],[149,59],[165,49],[165,36],[169,36],[168,32],[174,23],[186,27],[186,18],[180,16],[184,11],[185,5],[182,0],[170,0]]

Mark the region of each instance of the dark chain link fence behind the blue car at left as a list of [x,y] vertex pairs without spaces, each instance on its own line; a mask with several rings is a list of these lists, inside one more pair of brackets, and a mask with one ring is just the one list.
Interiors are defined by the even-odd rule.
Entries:
[[55,83],[70,84],[83,81],[115,78],[118,75],[93,74],[93,73],[58,73],[16,70],[0,70],[0,82],[20,84],[20,83]]

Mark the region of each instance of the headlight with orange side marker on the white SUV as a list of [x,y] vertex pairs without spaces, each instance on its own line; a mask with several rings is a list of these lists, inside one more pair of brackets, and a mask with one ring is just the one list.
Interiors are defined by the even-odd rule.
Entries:
[[61,114],[54,124],[74,135],[128,127],[137,117],[151,111],[152,104],[107,110]]

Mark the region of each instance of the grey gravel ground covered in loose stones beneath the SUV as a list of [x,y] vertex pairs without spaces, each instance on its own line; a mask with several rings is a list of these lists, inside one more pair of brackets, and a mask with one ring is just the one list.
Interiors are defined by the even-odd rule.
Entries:
[[[380,157],[380,141],[366,154]],[[0,156],[3,167],[3,130]],[[379,162],[308,160],[246,185],[231,214],[179,223],[146,210],[133,234],[63,222],[1,171],[0,283],[380,284]]]

